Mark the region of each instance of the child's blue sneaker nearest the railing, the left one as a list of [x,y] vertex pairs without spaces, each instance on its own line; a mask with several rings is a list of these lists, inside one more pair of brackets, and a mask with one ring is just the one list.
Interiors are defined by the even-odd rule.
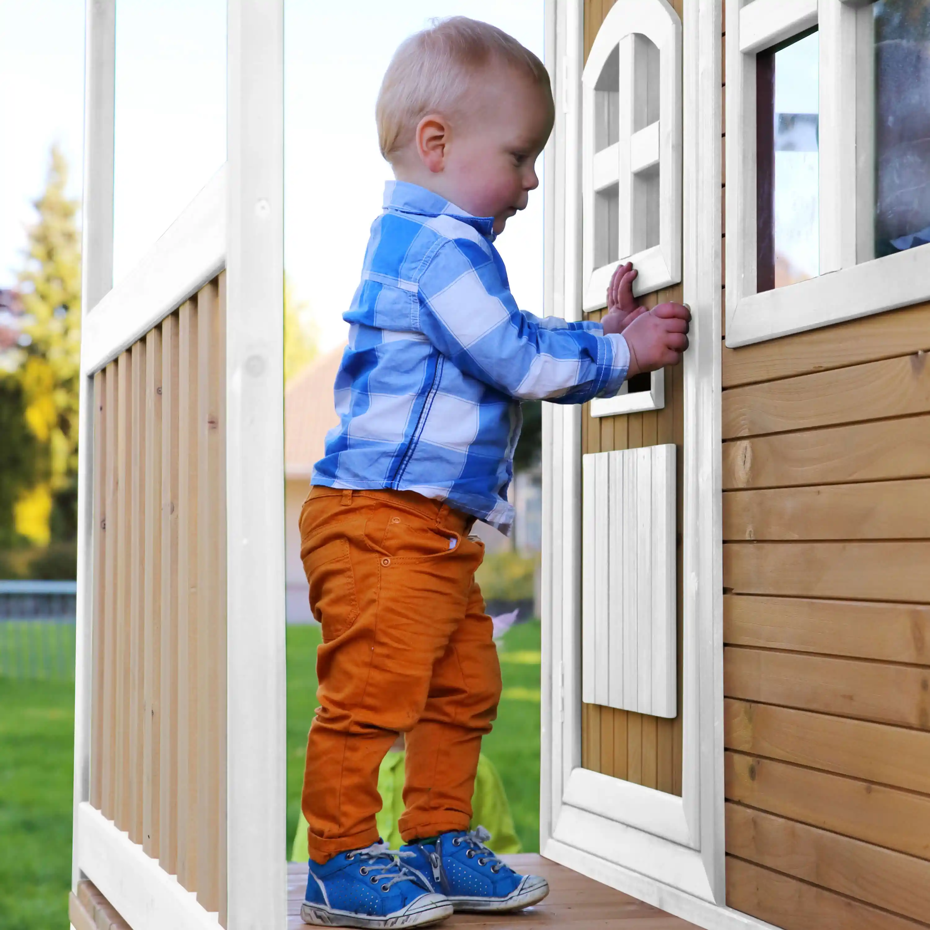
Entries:
[[386,843],[340,853],[326,865],[310,860],[304,923],[323,927],[420,927],[452,914],[445,895],[405,867]]

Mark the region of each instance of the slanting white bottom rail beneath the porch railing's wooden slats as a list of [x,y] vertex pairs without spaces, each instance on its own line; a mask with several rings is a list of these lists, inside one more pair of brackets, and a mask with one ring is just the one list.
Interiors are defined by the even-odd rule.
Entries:
[[78,804],[75,854],[81,871],[132,930],[217,930],[218,914],[145,855],[90,804]]

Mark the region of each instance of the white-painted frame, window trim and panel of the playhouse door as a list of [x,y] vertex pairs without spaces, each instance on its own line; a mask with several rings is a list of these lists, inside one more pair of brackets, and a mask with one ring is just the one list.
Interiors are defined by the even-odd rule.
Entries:
[[[663,196],[660,223],[650,239],[642,230],[637,233],[644,214],[636,212],[635,194],[629,192],[635,191],[643,166],[658,164],[665,172],[671,164],[674,169],[659,156],[658,140],[666,140],[670,131],[663,125],[668,111],[645,120],[644,131],[627,126],[630,131],[624,135],[621,107],[617,140],[604,138],[597,153],[588,152],[585,146],[596,127],[585,122],[589,116],[584,101],[600,106],[610,100],[593,100],[587,90],[614,88],[599,85],[598,75],[589,73],[582,89],[585,6],[578,0],[557,0],[549,7],[547,51],[554,65],[557,113],[546,164],[547,246],[552,257],[547,312],[581,319],[583,308],[593,306],[594,292],[604,284],[604,266],[609,271],[610,262],[625,255],[644,260],[646,276],[658,282],[645,290],[675,280],[674,207],[681,211],[684,301],[694,324],[684,360],[684,445],[677,450],[640,450],[642,460],[626,453],[602,453],[583,462],[580,408],[546,405],[540,848],[544,856],[703,926],[758,926],[724,906],[721,8],[716,0],[684,0],[684,26],[678,33],[684,66],[674,77],[682,81],[678,100],[684,101],[684,113],[679,114],[684,192],[677,203],[671,194]],[[661,55],[674,60],[662,36],[676,21],[664,0],[619,0],[602,27],[613,33],[605,40],[595,38],[589,63],[612,67],[609,59],[618,47],[620,64],[628,62],[635,82],[635,44],[645,37]],[[631,46],[625,51],[623,36],[628,35]],[[667,75],[668,62],[661,62],[659,69]],[[621,75],[621,104],[622,82]],[[628,86],[627,93],[629,106],[638,106],[635,86],[632,91]],[[649,145],[655,151],[645,152]],[[673,149],[671,142],[669,148]],[[591,166],[586,161],[589,154]],[[620,206],[631,210],[631,218],[625,224],[618,216],[618,236],[599,247],[592,241],[591,227],[614,217],[609,205],[598,208],[596,198],[609,198],[615,180]],[[673,192],[674,185],[667,179],[663,190]],[[643,408],[615,403],[604,413]],[[670,498],[676,493],[668,468],[675,454],[684,458],[684,487],[678,492],[684,496],[684,524],[679,527],[684,549],[684,680],[678,694],[673,671],[670,675],[674,637],[667,625],[669,534],[674,532]],[[638,517],[631,519],[631,513]],[[635,572],[620,562],[626,551],[647,553]],[[642,650],[644,629],[652,653]],[[581,712],[588,702],[656,715],[682,714],[681,796],[582,766]]]

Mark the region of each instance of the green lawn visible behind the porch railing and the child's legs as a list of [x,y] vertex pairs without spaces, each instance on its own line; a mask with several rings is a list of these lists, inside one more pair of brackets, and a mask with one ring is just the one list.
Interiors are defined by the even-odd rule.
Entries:
[[[287,851],[297,825],[307,729],[316,707],[319,628],[287,628]],[[500,645],[504,697],[484,751],[498,767],[517,833],[538,849],[539,624]],[[68,925],[74,686],[0,675],[0,930]]]

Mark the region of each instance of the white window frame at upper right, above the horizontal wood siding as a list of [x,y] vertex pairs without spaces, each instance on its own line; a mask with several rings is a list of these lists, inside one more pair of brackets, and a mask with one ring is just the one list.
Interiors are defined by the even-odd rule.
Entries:
[[[751,0],[726,11],[726,344],[930,299],[930,246],[874,258],[873,0]],[[756,289],[756,54],[817,26],[817,277]]]

